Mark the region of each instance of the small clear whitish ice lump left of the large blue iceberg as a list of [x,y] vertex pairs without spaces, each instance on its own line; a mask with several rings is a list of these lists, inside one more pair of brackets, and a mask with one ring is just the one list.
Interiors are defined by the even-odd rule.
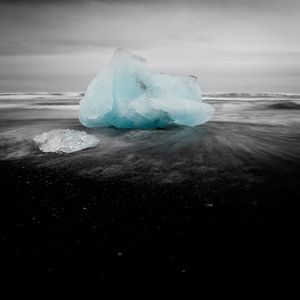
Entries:
[[36,136],[33,139],[43,152],[72,153],[94,147],[99,140],[84,131],[55,129]]

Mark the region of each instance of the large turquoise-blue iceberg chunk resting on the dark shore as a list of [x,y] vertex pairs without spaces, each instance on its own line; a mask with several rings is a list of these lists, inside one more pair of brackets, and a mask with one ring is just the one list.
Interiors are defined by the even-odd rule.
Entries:
[[200,125],[213,114],[195,76],[151,73],[144,58],[117,49],[81,99],[79,120],[87,127],[150,129]]

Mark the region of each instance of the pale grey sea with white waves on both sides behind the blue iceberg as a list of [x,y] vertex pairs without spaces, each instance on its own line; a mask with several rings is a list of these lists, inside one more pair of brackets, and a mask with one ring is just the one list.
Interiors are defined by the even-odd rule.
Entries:
[[[1,119],[77,118],[83,93],[0,93]],[[216,109],[212,122],[291,124],[299,122],[300,94],[211,93],[202,101]],[[14,111],[10,109],[15,109]],[[14,117],[14,113],[16,116]]]

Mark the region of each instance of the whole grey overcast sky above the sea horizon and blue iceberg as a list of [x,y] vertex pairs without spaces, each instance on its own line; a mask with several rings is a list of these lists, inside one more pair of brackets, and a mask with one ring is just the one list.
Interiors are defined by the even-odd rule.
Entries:
[[300,1],[0,0],[0,92],[84,91],[118,47],[203,92],[300,92]]

